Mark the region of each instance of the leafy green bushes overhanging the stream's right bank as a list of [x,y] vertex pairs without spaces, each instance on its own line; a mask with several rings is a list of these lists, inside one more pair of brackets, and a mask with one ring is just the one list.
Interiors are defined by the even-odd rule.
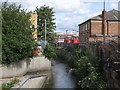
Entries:
[[101,62],[88,48],[81,47],[76,50],[68,48],[67,63],[71,66],[70,72],[76,78],[79,88],[105,88],[108,87],[102,76]]

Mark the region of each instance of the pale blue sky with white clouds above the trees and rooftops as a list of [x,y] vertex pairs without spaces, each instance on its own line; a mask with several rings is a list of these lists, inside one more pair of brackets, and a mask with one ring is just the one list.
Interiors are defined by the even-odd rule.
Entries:
[[[101,14],[103,10],[102,1],[103,0],[8,0],[10,3],[21,4],[22,8],[28,11],[35,10],[35,7],[43,5],[53,7],[56,18],[56,31],[59,32],[78,30],[78,24]],[[118,1],[120,0],[106,0],[106,10],[118,10]]]

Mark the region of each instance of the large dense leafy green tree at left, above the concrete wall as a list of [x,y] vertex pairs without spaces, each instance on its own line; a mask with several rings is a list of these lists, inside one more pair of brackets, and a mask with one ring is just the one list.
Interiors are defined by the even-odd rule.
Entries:
[[15,4],[2,4],[2,64],[10,64],[33,56],[30,15]]

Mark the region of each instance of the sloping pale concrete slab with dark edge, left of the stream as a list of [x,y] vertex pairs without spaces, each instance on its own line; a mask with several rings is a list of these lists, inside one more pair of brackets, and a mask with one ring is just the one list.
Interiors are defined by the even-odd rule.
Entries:
[[48,76],[46,74],[25,76],[21,79],[21,82],[15,87],[12,87],[11,90],[14,88],[18,90],[22,90],[23,88],[43,88],[47,79]]

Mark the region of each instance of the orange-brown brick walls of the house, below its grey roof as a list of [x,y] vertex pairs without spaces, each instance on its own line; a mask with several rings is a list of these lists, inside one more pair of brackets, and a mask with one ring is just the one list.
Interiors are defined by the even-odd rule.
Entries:
[[[90,29],[87,30],[82,30],[82,26],[87,24],[87,23],[91,23],[88,24],[90,25]],[[118,31],[119,31],[119,24],[120,22],[115,22],[115,21],[107,21],[106,22],[106,29],[105,29],[105,35],[119,35]],[[80,42],[81,43],[87,43],[87,42],[92,42],[95,40],[103,40],[103,37],[96,37],[96,38],[92,38],[90,37],[91,35],[102,35],[102,21],[87,21],[83,24],[81,24],[79,26],[79,35],[80,35]]]

